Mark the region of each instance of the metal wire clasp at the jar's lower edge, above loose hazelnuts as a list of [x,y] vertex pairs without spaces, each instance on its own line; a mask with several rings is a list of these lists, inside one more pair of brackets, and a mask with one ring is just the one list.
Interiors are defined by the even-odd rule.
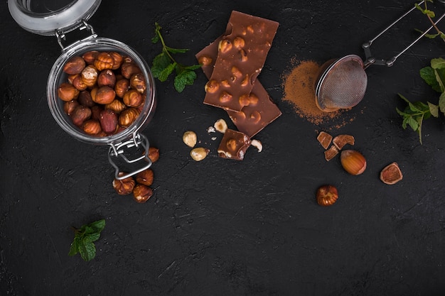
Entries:
[[[146,138],[146,136],[135,133],[133,138],[131,138],[129,141],[109,145],[111,147],[109,148],[108,152],[108,161],[115,169],[114,177],[117,180],[123,180],[127,177],[131,177],[132,175],[136,175],[138,172],[142,172],[143,170],[151,167],[152,163],[149,158],[150,145],[149,140]],[[137,150],[140,147],[144,148],[143,155],[139,154],[140,156],[136,156],[136,158],[129,158],[127,157],[127,155],[125,155],[125,152],[127,151],[126,149],[135,148]],[[119,158],[124,160],[125,163],[140,163],[141,166],[132,170],[131,172],[125,172],[123,175],[119,175],[119,172],[121,172],[121,170],[119,169],[119,166],[114,162],[114,160],[119,160]]]

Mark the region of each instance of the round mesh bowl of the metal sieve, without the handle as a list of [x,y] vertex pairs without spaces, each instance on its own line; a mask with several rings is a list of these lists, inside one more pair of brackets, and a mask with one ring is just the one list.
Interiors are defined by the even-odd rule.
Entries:
[[348,109],[365,96],[368,77],[363,60],[347,55],[333,62],[322,73],[316,86],[316,103],[323,111]]

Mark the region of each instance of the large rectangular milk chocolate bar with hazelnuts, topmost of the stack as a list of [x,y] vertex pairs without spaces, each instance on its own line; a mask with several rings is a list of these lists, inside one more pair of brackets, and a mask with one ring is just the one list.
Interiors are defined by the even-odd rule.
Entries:
[[261,72],[279,23],[232,11],[224,35],[218,43],[218,57],[205,84],[205,104],[241,111],[257,104],[250,96],[253,82]]

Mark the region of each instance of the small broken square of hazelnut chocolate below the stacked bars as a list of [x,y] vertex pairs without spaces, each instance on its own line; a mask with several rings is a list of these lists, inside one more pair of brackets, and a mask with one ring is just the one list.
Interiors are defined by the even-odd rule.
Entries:
[[250,143],[250,137],[245,133],[228,128],[218,147],[218,155],[221,158],[243,160]]

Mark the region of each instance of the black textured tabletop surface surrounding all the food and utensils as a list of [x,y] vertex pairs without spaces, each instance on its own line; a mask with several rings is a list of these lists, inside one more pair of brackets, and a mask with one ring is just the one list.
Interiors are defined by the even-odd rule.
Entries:
[[[250,3],[252,2],[252,3]],[[437,102],[419,77],[444,43],[421,40],[390,68],[368,68],[368,91],[333,134],[355,136],[368,160],[348,175],[326,163],[318,131],[283,97],[291,60],[324,62],[350,53],[412,5],[410,1],[102,1],[89,23],[101,37],[135,48],[151,64],[154,22],[172,47],[194,54],[225,30],[230,11],[280,23],[259,76],[283,115],[255,138],[264,150],[218,158],[205,129],[224,111],[206,106],[198,71],[178,94],[158,83],[158,109],[144,130],[161,150],[154,197],[136,204],[111,185],[107,147],[71,138],[54,121],[45,84],[60,55],[55,38],[28,33],[0,4],[0,295],[445,295],[444,120],[424,124],[424,144],[401,127],[397,92]],[[417,22],[419,21],[419,22]],[[387,58],[424,28],[416,14],[372,45]],[[423,25],[423,26],[422,26]],[[442,28],[445,28],[442,26]],[[212,151],[196,163],[181,141],[198,133]],[[385,185],[397,161],[404,180]],[[340,198],[320,207],[316,188]],[[70,226],[104,218],[97,256],[69,257]]]

